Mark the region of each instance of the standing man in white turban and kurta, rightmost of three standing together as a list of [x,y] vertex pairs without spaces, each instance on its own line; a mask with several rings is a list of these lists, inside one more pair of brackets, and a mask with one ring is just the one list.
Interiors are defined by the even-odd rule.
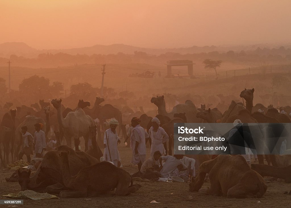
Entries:
[[165,130],[160,127],[161,122],[157,117],[152,119],[152,127],[150,127],[149,134],[152,139],[152,146],[150,148],[150,156],[153,156],[155,151],[159,151],[162,156],[167,154],[167,142],[169,136]]

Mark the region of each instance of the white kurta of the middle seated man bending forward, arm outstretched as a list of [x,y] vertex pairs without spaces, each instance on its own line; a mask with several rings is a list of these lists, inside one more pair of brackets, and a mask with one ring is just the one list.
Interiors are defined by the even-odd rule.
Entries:
[[178,165],[183,165],[183,169],[187,168],[186,165],[184,165],[180,160],[177,158],[168,155],[168,156],[162,156],[162,160],[165,161],[165,164],[160,171],[162,178],[167,178],[170,176],[170,173],[172,173]]

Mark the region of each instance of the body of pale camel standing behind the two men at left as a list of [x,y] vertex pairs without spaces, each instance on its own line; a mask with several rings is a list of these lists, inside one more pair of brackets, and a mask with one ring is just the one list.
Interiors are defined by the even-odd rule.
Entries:
[[25,120],[18,125],[18,127],[15,130],[15,151],[14,156],[15,158],[18,157],[19,151],[22,146],[22,126],[27,126],[27,132],[31,133],[31,135],[34,135],[35,133],[35,127],[34,124],[36,123],[42,123],[44,125],[43,129],[46,129],[45,121],[42,118],[38,118],[35,116],[26,116]]

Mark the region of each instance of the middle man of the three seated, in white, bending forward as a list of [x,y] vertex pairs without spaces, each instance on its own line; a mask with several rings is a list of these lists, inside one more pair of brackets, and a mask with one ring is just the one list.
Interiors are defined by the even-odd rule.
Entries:
[[[160,164],[162,167],[162,170],[160,171],[162,178],[168,178],[171,176],[175,175],[177,176],[177,171],[179,173],[179,171],[183,171],[183,170],[187,170],[187,166],[184,165],[180,159],[183,158],[184,155],[168,155],[168,156],[162,156],[160,157]],[[164,166],[162,165],[162,160],[165,161]],[[178,165],[182,165],[182,169]],[[180,170],[179,170],[180,169]]]

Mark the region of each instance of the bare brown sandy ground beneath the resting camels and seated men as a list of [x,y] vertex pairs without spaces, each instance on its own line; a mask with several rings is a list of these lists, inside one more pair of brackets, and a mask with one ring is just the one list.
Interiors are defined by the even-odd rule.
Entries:
[[[147,148],[147,157],[150,149]],[[120,157],[123,166],[129,166],[131,151],[129,148],[120,145]],[[137,166],[123,167],[129,173],[137,171]],[[2,195],[18,193],[20,186],[18,183],[5,181],[10,177],[13,170],[0,170],[0,199],[8,199]],[[189,192],[189,183],[166,183],[166,182],[136,182],[142,187],[129,196],[121,197],[109,192],[99,197],[90,198],[70,198],[52,200],[24,200],[22,207],[290,207],[291,195],[284,194],[291,190],[291,184],[271,182],[268,183],[267,192],[263,198],[248,199],[228,199],[210,195],[199,195],[198,192]],[[205,182],[204,186],[210,186]],[[158,204],[151,204],[155,200]],[[8,205],[1,205],[6,206]]]

